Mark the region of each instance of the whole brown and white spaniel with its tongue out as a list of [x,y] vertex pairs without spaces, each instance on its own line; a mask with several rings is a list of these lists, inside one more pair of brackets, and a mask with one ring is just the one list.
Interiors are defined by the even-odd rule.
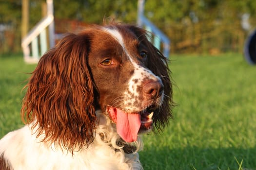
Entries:
[[[0,170],[140,170],[140,133],[168,124],[167,59],[133,25],[91,26],[45,53],[26,125],[0,140]],[[154,123],[153,123],[154,122]]]

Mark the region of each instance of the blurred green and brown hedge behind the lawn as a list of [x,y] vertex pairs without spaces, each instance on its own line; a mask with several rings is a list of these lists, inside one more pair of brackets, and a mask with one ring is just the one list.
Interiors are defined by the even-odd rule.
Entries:
[[[22,33],[22,2],[29,20]],[[0,53],[20,52],[21,37],[46,15],[46,0],[0,0]],[[103,18],[137,23],[138,0],[54,0],[55,33]],[[243,52],[256,27],[255,0],[146,0],[144,16],[171,40],[171,53]],[[23,34],[23,35],[22,35]]]

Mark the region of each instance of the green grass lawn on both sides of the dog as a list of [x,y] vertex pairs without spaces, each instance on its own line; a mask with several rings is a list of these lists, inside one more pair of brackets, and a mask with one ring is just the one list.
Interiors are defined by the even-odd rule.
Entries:
[[[173,55],[174,119],[143,136],[145,170],[256,170],[256,67],[240,54]],[[22,126],[25,74],[35,65],[0,56],[0,137]]]

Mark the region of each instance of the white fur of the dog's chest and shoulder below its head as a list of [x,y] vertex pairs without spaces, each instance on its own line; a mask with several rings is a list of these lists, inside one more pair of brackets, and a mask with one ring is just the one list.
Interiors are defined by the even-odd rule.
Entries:
[[[96,136],[88,148],[72,153],[40,142],[28,125],[10,132],[0,140],[0,155],[14,170],[140,170],[138,153],[124,153],[118,146],[114,124],[97,111]],[[103,139],[103,140],[102,140]],[[140,139],[136,142],[141,149]]]

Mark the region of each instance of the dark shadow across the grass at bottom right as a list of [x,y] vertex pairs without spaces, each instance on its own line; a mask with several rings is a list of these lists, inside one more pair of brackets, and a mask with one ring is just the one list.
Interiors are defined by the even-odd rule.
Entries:
[[256,148],[150,148],[139,153],[144,170],[256,170]]

